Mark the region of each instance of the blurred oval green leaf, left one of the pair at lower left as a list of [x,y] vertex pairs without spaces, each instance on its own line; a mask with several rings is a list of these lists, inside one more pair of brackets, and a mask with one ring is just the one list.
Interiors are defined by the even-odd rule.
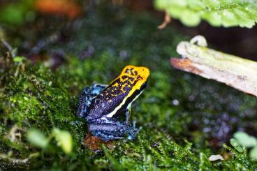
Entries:
[[27,132],[27,140],[38,147],[45,148],[48,145],[48,140],[41,131],[35,128],[30,128]]

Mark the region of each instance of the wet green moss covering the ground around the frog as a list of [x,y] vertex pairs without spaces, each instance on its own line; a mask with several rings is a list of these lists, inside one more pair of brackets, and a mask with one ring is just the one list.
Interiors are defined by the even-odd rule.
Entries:
[[[257,167],[247,151],[239,153],[222,147],[223,143],[229,146],[228,140],[235,131],[256,133],[256,98],[172,68],[169,59],[177,56],[177,43],[188,39],[178,30],[158,30],[159,22],[153,16],[129,15],[120,10],[89,11],[68,24],[54,24],[54,20],[45,31],[48,36],[38,40],[39,43],[31,45],[31,37],[39,37],[43,30],[31,27],[33,36],[18,35],[17,45],[14,44],[19,47],[18,55],[25,56],[21,60],[10,57],[2,48],[2,170],[254,170]],[[85,120],[75,115],[80,91],[93,82],[108,84],[128,64],[151,70],[147,89],[132,105],[131,121],[136,121],[142,130],[136,140],[118,140],[112,147],[103,145],[101,150],[91,151],[82,145],[87,133]],[[64,154],[54,141],[49,149],[35,147],[26,139],[31,127],[45,135],[50,135],[53,128],[69,131],[73,152]],[[38,155],[24,163],[11,160],[35,153]],[[4,158],[3,154],[9,156]],[[210,162],[208,157],[212,154],[227,158]]]

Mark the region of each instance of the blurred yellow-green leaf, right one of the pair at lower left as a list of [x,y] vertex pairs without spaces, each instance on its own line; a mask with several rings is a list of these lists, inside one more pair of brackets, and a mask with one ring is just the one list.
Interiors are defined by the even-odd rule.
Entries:
[[71,133],[68,131],[62,131],[59,128],[54,128],[53,133],[61,149],[66,154],[70,154],[73,149]]

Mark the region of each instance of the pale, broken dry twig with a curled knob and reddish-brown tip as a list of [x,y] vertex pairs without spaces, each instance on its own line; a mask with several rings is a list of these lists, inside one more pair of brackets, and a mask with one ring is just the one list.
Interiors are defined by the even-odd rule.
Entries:
[[177,45],[182,59],[170,59],[172,66],[257,96],[257,62],[205,46],[203,36],[196,36],[190,42],[182,41]]

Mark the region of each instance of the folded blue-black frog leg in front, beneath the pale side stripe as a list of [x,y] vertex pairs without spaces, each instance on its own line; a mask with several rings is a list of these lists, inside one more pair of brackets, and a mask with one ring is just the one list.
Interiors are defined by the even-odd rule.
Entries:
[[128,135],[129,140],[135,139],[137,129],[130,124],[122,123],[117,119],[103,117],[95,119],[89,123],[89,132],[101,138],[103,141],[123,139],[124,135]]

